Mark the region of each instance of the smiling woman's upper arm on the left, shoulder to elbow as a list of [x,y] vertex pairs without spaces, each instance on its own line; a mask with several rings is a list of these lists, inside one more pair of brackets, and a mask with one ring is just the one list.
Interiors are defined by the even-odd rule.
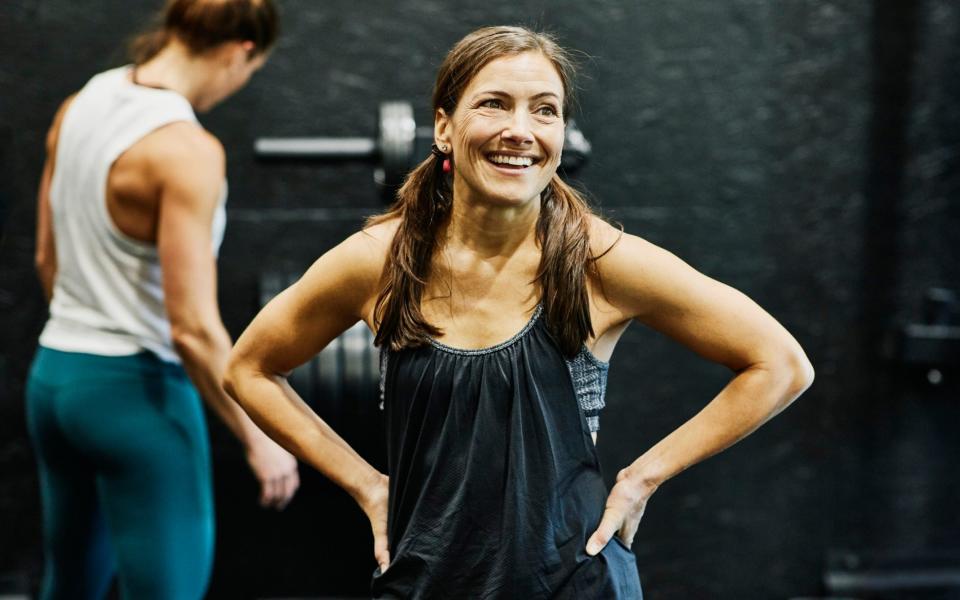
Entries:
[[263,307],[237,340],[233,366],[287,373],[363,319],[379,292],[389,245],[377,227],[332,248]]

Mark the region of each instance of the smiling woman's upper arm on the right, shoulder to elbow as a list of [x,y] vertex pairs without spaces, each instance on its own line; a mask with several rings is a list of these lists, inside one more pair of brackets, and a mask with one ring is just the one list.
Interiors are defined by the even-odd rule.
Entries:
[[607,301],[625,318],[733,371],[806,360],[793,336],[753,300],[646,240],[623,234],[597,265]]

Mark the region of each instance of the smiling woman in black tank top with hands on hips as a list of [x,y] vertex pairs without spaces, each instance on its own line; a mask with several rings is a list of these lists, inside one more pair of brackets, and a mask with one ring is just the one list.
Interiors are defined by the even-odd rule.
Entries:
[[[630,544],[657,487],[812,380],[770,315],[593,216],[557,176],[571,78],[542,34],[492,27],[458,42],[434,88],[434,155],[231,356],[231,395],[369,517],[377,598],[640,598]],[[283,375],[360,319],[382,348],[389,477]],[[597,413],[633,320],[735,376],[608,494]]]

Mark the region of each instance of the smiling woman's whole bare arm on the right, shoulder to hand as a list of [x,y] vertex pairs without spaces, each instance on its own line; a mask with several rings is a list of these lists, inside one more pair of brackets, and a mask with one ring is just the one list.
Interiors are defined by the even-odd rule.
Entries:
[[666,250],[624,235],[598,266],[607,300],[625,319],[663,332],[733,373],[699,413],[618,474],[623,485],[611,492],[594,535],[602,547],[617,530],[632,541],[643,505],[658,486],[786,408],[813,382],[813,368],[766,311]]

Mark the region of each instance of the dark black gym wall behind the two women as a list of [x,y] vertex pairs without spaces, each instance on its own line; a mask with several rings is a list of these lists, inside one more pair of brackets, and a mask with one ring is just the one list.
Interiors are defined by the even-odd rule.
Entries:
[[[32,270],[44,133],[63,97],[120,64],[122,41],[159,4],[0,7],[8,203],[0,585],[11,589],[35,586],[41,565],[22,397],[46,310]],[[544,27],[585,53],[576,118],[594,152],[577,180],[600,210],[750,295],[817,369],[796,405],[653,497],[634,544],[648,596],[813,595],[826,591],[832,550],[960,550],[953,373],[934,387],[878,354],[890,327],[920,320],[925,289],[960,287],[954,3],[286,0],[282,8],[271,61],[201,116],[229,156],[220,293],[234,335],[257,309],[263,272],[301,271],[382,206],[369,166],[264,165],[253,158],[255,137],[372,134],[378,102],[396,98],[411,100],[427,124],[434,70],[454,41],[486,24]],[[631,327],[601,420],[608,478],[728,378]],[[351,423],[348,439],[376,454],[362,423]],[[211,428],[219,527],[211,596],[362,596],[373,563],[360,511],[305,473],[286,513],[260,512],[236,444]]]

